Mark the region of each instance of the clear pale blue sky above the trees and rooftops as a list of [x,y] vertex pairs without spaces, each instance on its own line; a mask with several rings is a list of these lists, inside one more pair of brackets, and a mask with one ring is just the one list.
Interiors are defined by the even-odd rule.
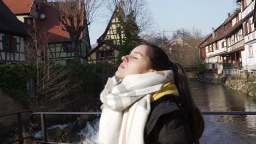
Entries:
[[[212,27],[217,28],[227,17],[233,13],[238,5],[236,0],[146,0],[149,10],[154,16],[152,29],[149,31],[168,31],[193,27],[201,29],[203,35],[212,32]],[[101,36],[107,27],[112,14],[104,10],[98,14],[101,19],[93,22],[89,34],[91,45]],[[170,33],[170,32],[169,32]]]

